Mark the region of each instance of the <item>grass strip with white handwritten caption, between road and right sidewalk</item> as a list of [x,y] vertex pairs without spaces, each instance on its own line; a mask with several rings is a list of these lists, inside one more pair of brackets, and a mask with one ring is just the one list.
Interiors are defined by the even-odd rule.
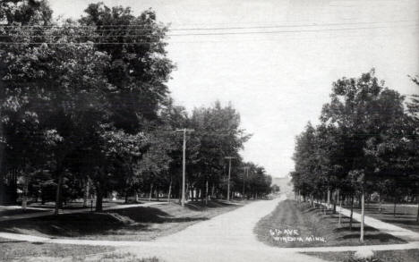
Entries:
[[[280,202],[271,214],[263,217],[254,231],[260,241],[278,247],[361,245],[360,224],[354,221],[352,231],[349,230],[348,224],[348,217],[342,216],[339,227],[338,215],[323,215],[320,209],[312,208],[308,203],[298,204],[294,200],[287,199]],[[278,232],[275,232],[275,229]],[[284,230],[287,231],[284,232]],[[365,226],[364,230],[364,245],[406,242],[369,226]],[[274,232],[274,236],[271,232]],[[288,236],[295,237],[295,240],[286,240]],[[312,236],[314,239],[310,238]],[[275,239],[275,237],[279,238]],[[298,241],[299,237],[302,241]]]

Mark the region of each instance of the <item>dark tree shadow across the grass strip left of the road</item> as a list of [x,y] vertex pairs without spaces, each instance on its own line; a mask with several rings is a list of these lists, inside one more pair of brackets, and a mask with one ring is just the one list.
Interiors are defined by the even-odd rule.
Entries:
[[148,231],[150,224],[183,223],[206,220],[205,217],[175,217],[155,207],[129,207],[109,213],[81,213],[43,216],[0,222],[2,232],[37,231],[57,237],[107,235],[109,232]]

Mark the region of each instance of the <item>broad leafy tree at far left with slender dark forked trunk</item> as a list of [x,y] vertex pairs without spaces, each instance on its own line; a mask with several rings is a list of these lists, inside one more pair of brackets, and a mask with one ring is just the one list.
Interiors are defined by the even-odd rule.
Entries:
[[14,117],[11,123],[16,123],[16,117],[30,114],[41,128],[38,134],[55,134],[52,157],[58,180],[57,213],[66,157],[105,121],[107,95],[113,88],[103,78],[108,64],[106,54],[97,52],[89,43],[73,44],[72,37],[61,29],[51,28],[43,35],[55,36],[59,36],[56,45],[34,46],[28,39],[27,44],[7,46],[2,75],[4,119]]

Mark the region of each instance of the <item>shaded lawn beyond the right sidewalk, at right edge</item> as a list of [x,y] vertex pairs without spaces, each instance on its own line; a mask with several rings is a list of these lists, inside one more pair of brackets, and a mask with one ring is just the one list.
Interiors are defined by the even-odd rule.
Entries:
[[[354,208],[354,211],[361,212],[359,208]],[[381,213],[379,204],[367,204],[365,206],[365,215],[380,219],[382,222],[395,224],[411,231],[419,232],[419,223],[416,222],[417,206],[399,205],[396,207],[396,216],[394,216],[392,204],[381,205]]]

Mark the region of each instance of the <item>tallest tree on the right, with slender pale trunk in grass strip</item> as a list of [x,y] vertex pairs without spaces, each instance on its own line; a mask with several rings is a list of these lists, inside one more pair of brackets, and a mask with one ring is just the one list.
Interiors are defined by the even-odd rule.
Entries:
[[[372,165],[372,157],[367,147],[374,140],[387,140],[386,134],[400,139],[397,124],[404,119],[403,99],[398,92],[384,87],[374,70],[363,73],[358,79],[336,81],[333,84],[331,101],[323,106],[321,120],[344,131],[344,151],[346,153],[345,173],[359,182],[363,205],[365,185],[377,176],[377,165]],[[345,163],[344,163],[345,164]],[[363,214],[363,208],[362,208]],[[363,241],[363,216],[361,221],[361,241]]]

